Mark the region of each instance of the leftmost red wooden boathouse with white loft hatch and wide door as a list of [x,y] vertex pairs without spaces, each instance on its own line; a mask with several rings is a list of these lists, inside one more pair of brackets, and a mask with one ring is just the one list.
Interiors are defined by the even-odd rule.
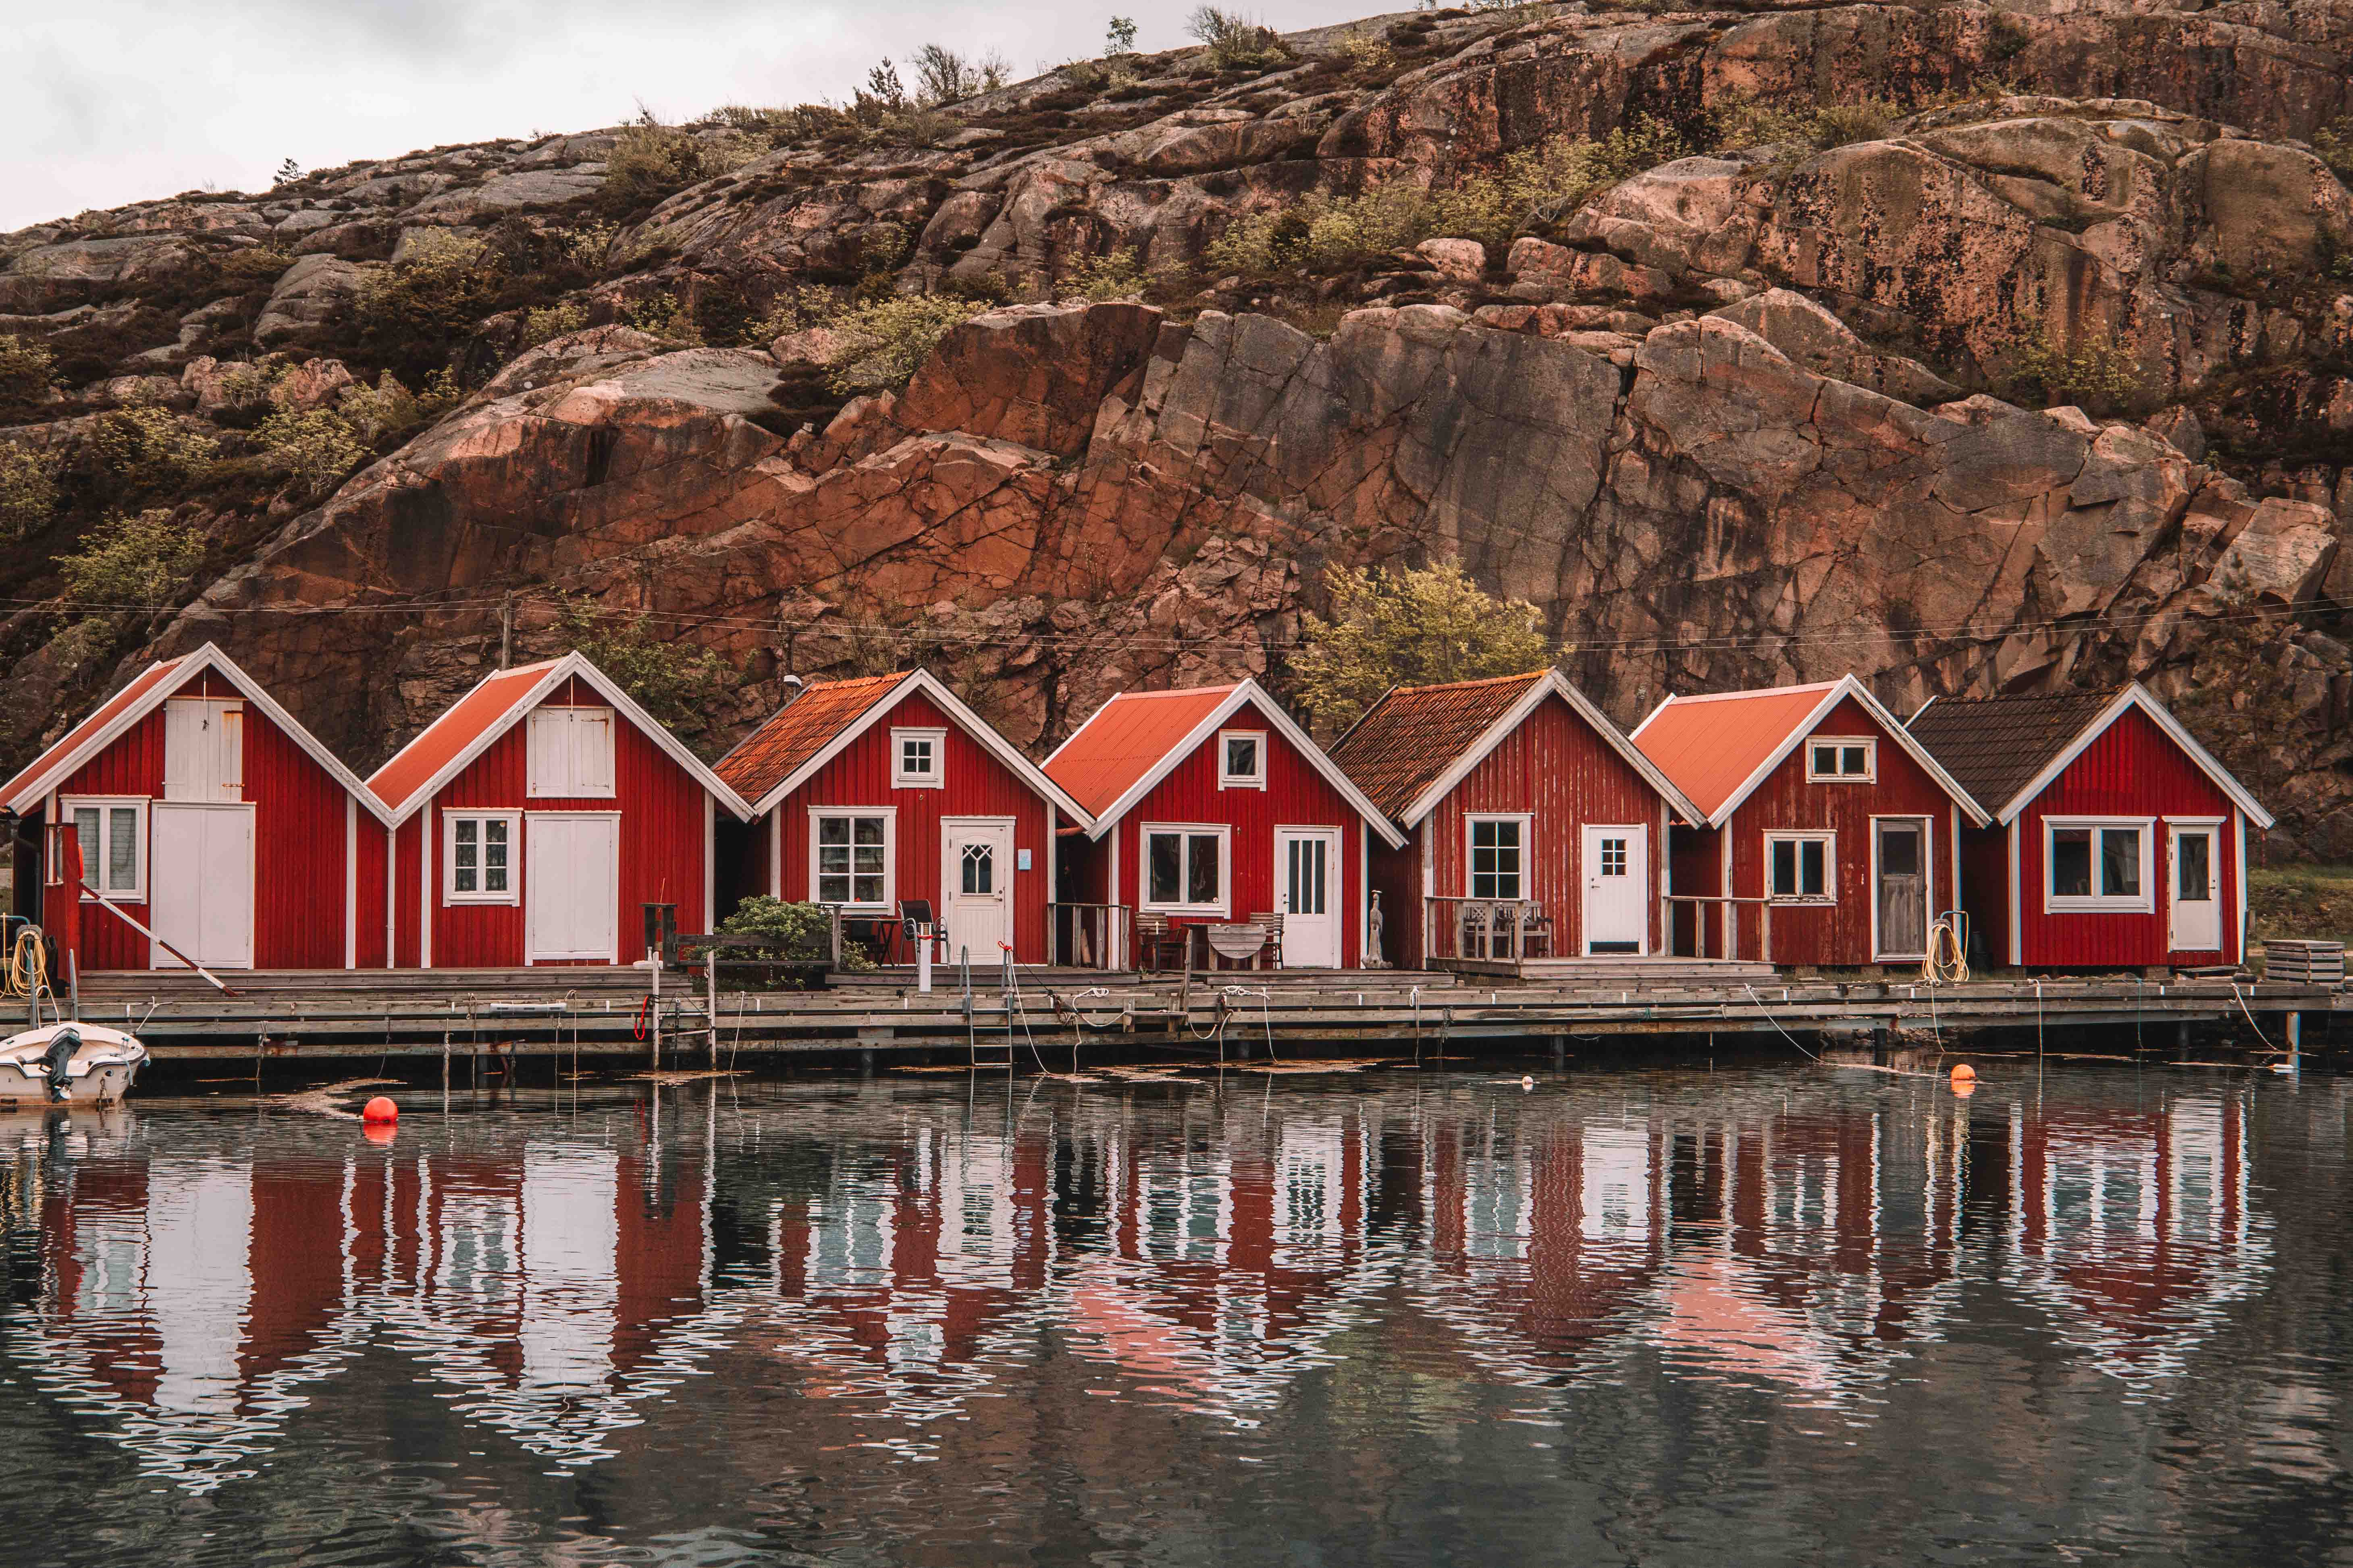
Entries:
[[[205,969],[367,964],[362,870],[384,811],[209,642],[134,675],[0,785],[0,809],[80,844],[78,917],[49,922],[75,929],[78,969],[179,969],[174,952]],[[19,835],[19,886],[61,879],[54,835],[33,844]]]

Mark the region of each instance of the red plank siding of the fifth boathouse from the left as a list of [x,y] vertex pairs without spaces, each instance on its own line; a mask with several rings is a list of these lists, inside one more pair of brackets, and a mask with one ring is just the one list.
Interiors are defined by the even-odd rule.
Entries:
[[[1471,891],[1468,818],[1487,811],[1529,811],[1529,898],[1553,917],[1555,952],[1584,952],[1584,827],[1638,825],[1649,844],[1645,898],[1649,945],[1659,945],[1659,792],[1565,701],[1546,698],[1527,719],[1454,785],[1417,835],[1428,837],[1433,886],[1440,898]],[[1384,896],[1384,910],[1388,898]],[[1419,903],[1419,898],[1417,898]]]

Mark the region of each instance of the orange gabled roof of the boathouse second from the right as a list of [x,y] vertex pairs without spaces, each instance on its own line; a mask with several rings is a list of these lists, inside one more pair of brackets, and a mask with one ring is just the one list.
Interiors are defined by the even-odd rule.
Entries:
[[1868,712],[1974,825],[1986,825],[1986,811],[1977,799],[1852,675],[1807,686],[1671,696],[1635,726],[1633,743],[1699,806],[1704,825],[1722,827],[1781,766],[1781,759],[1845,701]]

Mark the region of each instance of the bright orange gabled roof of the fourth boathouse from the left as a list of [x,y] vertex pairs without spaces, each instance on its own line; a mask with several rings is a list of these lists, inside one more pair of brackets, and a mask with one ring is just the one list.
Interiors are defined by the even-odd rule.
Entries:
[[1101,839],[1129,806],[1151,795],[1153,785],[1242,708],[1257,710],[1259,719],[1289,741],[1391,849],[1405,844],[1405,835],[1372,804],[1372,797],[1254,679],[1184,691],[1122,691],[1054,748],[1045,759],[1047,778],[1087,809],[1094,818],[1087,837]]

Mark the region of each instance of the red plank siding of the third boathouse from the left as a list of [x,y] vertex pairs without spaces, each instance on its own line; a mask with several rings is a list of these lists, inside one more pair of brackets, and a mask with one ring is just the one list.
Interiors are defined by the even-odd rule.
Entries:
[[[892,788],[892,729],[948,731],[941,788]],[[795,903],[816,896],[809,879],[809,806],[896,806],[894,893],[901,903],[927,898],[932,910],[944,907],[941,818],[1014,818],[1014,865],[1019,865],[1024,849],[1031,853],[1031,870],[1012,870],[1014,959],[1019,964],[1045,961],[1045,905],[1054,896],[1049,806],[925,693],[915,691],[901,698],[873,729],[845,745],[809,783],[784,797],[776,811],[765,818],[781,823],[784,835],[784,886],[776,896]],[[974,959],[979,957],[974,954]]]

